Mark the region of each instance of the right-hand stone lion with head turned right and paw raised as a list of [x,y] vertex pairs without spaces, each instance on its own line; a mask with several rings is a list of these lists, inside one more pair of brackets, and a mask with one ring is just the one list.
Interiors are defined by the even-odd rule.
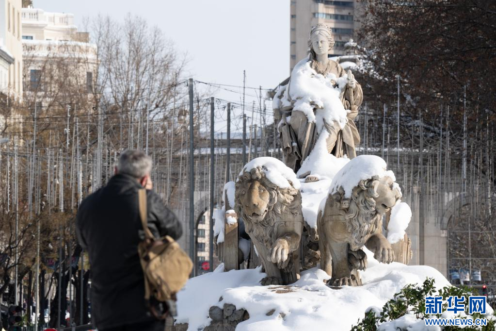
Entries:
[[389,264],[395,256],[382,235],[382,215],[401,198],[399,187],[389,177],[361,180],[346,199],[340,187],[329,194],[317,217],[320,268],[331,276],[330,285],[360,286],[358,270],[367,267],[365,245],[374,258]]

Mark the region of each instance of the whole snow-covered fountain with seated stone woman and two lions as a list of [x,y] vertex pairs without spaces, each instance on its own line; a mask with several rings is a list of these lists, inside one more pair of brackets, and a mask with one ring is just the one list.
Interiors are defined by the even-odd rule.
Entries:
[[248,268],[226,261],[188,281],[176,319],[187,330],[350,330],[407,284],[449,285],[432,267],[407,265],[410,207],[384,160],[356,156],[362,88],[327,58],[330,29],[313,27],[309,46],[274,97],[284,162],[251,160],[215,214],[218,243],[233,226],[246,232],[235,249]]

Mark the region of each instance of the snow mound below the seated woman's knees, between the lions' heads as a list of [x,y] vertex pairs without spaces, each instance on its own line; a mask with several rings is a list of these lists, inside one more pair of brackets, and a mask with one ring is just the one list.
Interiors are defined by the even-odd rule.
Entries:
[[319,134],[310,155],[303,161],[300,170],[296,174],[298,177],[302,177],[305,173],[310,173],[310,175],[319,179],[333,179],[336,173],[350,161],[347,157],[337,158],[329,153],[325,141],[328,136],[329,132],[327,130]]

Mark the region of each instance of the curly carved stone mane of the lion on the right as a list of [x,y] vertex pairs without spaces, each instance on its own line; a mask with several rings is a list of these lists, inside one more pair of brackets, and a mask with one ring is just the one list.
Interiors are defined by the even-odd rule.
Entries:
[[354,246],[363,246],[365,236],[370,233],[371,226],[377,227],[380,224],[382,215],[375,209],[375,198],[378,197],[377,185],[378,176],[364,179],[353,188],[351,199],[344,198],[343,188],[339,188],[334,193],[334,201],[337,201],[345,208],[341,209],[346,222],[346,228],[352,235]]

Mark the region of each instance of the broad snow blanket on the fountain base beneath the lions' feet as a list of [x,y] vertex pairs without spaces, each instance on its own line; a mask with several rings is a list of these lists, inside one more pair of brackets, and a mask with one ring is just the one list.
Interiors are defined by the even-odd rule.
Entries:
[[260,267],[216,270],[191,278],[178,293],[176,323],[189,323],[188,331],[202,330],[210,323],[211,306],[231,303],[249,313],[249,319],[240,323],[237,331],[317,331],[330,330],[330,326],[332,330],[350,330],[369,307],[382,307],[407,284],[421,284],[426,277],[434,277],[438,288],[450,285],[430,266],[379,264],[371,252],[366,252],[369,268],[361,272],[364,285],[360,287],[329,288],[324,284],[329,276],[317,268],[303,272],[301,279],[290,286],[260,286],[265,276]]

